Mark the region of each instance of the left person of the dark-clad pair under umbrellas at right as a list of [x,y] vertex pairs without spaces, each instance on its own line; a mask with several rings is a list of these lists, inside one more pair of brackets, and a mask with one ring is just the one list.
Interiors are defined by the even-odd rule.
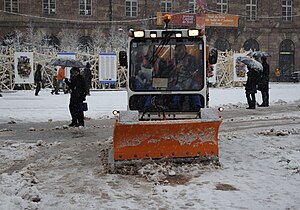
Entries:
[[257,93],[258,78],[259,78],[259,73],[255,69],[248,68],[247,82],[245,85],[246,98],[248,102],[247,109],[255,109],[255,105],[256,105],[255,94]]

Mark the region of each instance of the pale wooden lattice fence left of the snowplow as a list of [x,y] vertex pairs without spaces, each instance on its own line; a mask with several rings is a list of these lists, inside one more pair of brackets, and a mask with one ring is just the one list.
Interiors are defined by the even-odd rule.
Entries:
[[[33,52],[34,54],[34,67],[37,64],[42,65],[43,72],[43,87],[53,88],[56,69],[55,66],[51,65],[51,62],[57,58],[58,51],[56,49],[17,49],[14,47],[1,47],[0,48],[0,90],[14,90],[14,89],[34,89],[34,84],[16,84],[14,81],[15,70],[14,70],[14,54],[16,51],[19,52]],[[111,88],[105,84],[99,83],[99,54],[100,52],[112,52],[111,49],[97,49],[95,53],[80,52],[77,51],[76,59],[89,62],[91,64],[92,78],[92,89]],[[118,55],[118,49],[114,49]],[[117,56],[118,57],[118,56]],[[117,82],[113,88],[125,87],[127,81],[127,69],[125,67],[118,66],[117,69]]]

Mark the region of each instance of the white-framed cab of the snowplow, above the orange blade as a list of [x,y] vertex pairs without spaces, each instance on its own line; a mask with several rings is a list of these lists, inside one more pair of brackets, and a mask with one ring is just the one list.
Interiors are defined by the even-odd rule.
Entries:
[[141,119],[194,118],[207,107],[201,30],[131,31],[128,49],[128,105]]

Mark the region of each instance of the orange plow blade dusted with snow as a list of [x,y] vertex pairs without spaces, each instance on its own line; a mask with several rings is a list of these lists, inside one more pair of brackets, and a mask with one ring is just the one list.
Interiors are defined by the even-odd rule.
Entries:
[[115,123],[114,160],[218,157],[221,120]]

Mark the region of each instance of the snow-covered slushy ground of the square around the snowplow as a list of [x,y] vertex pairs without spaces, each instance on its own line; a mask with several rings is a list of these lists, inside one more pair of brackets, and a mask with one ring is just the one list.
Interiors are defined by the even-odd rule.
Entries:
[[0,209],[300,209],[300,84],[271,83],[270,107],[257,110],[245,109],[243,88],[211,88],[210,106],[227,109],[221,165],[149,164],[137,175],[109,174],[97,159],[125,91],[92,91],[96,124],[82,131],[56,126],[70,120],[69,95],[2,95]]

